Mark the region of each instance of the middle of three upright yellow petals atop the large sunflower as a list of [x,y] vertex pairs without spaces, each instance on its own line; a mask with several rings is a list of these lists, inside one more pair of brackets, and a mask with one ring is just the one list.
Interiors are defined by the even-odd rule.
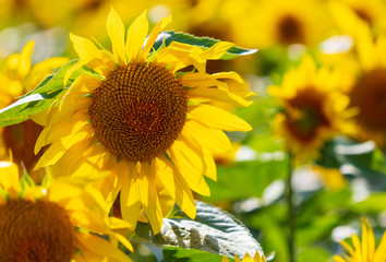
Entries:
[[125,51],[129,61],[133,61],[138,57],[142,46],[145,43],[147,31],[148,22],[146,17],[146,11],[144,11],[138,17],[134,20],[128,31]]

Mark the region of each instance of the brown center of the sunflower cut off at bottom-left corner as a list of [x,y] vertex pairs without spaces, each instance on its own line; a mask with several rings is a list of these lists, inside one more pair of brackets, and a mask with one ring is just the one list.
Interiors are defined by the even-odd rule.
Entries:
[[0,261],[70,262],[73,230],[65,210],[56,203],[10,200],[0,205]]

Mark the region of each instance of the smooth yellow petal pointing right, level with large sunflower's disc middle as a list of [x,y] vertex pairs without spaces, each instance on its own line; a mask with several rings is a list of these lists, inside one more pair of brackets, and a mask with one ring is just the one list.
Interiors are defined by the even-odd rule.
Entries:
[[241,118],[215,106],[201,104],[190,108],[189,115],[201,123],[225,131],[250,131],[252,127]]

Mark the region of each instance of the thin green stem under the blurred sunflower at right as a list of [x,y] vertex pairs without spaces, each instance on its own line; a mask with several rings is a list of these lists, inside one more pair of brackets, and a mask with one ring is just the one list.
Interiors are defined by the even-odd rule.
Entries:
[[292,172],[293,172],[293,157],[291,152],[288,152],[288,177],[287,177],[287,204],[288,204],[288,251],[289,251],[289,261],[295,262],[295,247],[294,247],[294,237],[295,237],[295,206],[293,204],[293,188],[292,188]]

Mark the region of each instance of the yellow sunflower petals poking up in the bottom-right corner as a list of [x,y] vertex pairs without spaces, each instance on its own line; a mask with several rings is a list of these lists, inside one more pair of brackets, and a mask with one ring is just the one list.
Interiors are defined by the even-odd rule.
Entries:
[[375,248],[374,231],[369,221],[361,218],[362,225],[362,243],[358,236],[351,236],[352,246],[346,241],[341,241],[341,246],[346,249],[348,254],[334,255],[335,262],[385,262],[386,261],[386,233],[384,233],[382,240],[377,248]]

